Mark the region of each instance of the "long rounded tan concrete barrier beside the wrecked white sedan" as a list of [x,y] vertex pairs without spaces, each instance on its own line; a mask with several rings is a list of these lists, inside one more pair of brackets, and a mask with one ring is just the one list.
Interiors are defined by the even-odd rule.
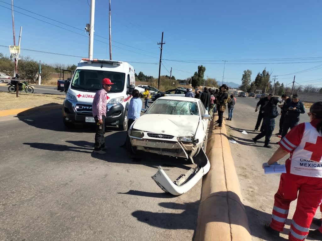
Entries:
[[194,241],[251,241],[248,219],[236,174],[226,128],[210,123],[206,154],[210,171],[202,180]]

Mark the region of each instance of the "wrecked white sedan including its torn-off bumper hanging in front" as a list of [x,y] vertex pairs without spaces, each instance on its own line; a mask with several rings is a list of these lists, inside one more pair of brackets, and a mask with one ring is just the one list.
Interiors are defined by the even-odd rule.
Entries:
[[153,180],[165,192],[187,192],[209,171],[205,141],[210,116],[200,99],[167,96],[157,99],[128,130],[128,149],[189,159],[196,168],[172,182],[159,167]]

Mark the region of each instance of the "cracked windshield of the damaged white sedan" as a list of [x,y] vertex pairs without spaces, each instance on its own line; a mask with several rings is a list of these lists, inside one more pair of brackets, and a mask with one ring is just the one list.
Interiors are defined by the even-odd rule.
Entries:
[[195,102],[162,99],[157,99],[146,114],[199,115]]

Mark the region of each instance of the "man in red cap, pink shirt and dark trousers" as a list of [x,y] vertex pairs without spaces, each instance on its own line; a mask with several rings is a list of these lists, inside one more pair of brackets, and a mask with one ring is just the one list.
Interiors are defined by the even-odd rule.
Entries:
[[95,93],[94,100],[92,103],[92,112],[96,122],[96,133],[95,133],[95,144],[94,153],[105,154],[105,118],[106,118],[106,103],[107,103],[107,92],[111,90],[112,85],[109,78],[105,78],[102,81],[102,89]]

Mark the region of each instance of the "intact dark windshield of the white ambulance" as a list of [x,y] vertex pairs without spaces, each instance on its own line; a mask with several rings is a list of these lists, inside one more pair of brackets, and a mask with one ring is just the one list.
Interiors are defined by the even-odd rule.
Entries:
[[110,92],[120,93],[124,90],[125,73],[78,69],[71,81],[71,88],[80,91],[96,92],[102,88],[102,80],[109,78],[114,85]]

